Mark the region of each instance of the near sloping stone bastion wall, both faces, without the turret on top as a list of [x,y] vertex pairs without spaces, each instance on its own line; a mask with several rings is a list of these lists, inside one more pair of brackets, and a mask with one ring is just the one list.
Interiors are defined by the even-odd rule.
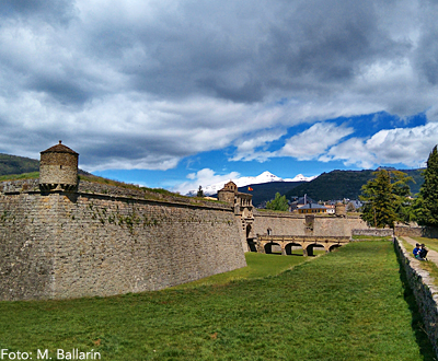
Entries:
[[221,205],[96,194],[0,195],[0,300],[158,290],[244,267]]

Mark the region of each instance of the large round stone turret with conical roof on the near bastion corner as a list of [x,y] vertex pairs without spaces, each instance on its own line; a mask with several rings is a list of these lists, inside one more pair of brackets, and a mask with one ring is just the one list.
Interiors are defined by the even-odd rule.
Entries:
[[56,144],[41,152],[39,187],[43,190],[73,190],[78,186],[79,154]]

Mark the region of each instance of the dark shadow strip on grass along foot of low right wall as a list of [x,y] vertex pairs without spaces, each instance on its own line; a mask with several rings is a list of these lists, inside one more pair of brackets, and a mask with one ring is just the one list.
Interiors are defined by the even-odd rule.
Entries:
[[[395,244],[394,244],[394,251],[396,254],[395,249]],[[425,361],[436,361],[436,354],[434,351],[434,348],[429,341],[429,338],[427,337],[425,326],[422,319],[422,314],[419,312],[417,302],[415,300],[414,291],[412,290],[410,282],[406,277],[406,272],[403,268],[402,259],[397,256],[397,261],[399,261],[399,275],[400,275],[400,280],[402,281],[404,293],[403,298],[406,301],[411,315],[412,315],[412,329],[414,330],[415,334],[415,340],[419,347],[419,352],[422,353],[423,358]]]

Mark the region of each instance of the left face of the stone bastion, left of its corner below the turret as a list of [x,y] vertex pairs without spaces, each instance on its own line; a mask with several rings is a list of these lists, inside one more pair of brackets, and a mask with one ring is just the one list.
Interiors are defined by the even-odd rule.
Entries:
[[53,294],[56,217],[48,198],[0,194],[0,300]]

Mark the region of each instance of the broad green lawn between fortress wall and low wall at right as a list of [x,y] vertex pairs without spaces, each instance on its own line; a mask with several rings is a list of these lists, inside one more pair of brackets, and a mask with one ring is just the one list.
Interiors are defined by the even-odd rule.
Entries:
[[0,348],[54,359],[79,348],[102,360],[434,360],[399,269],[391,243],[359,242],[224,286],[1,302]]

